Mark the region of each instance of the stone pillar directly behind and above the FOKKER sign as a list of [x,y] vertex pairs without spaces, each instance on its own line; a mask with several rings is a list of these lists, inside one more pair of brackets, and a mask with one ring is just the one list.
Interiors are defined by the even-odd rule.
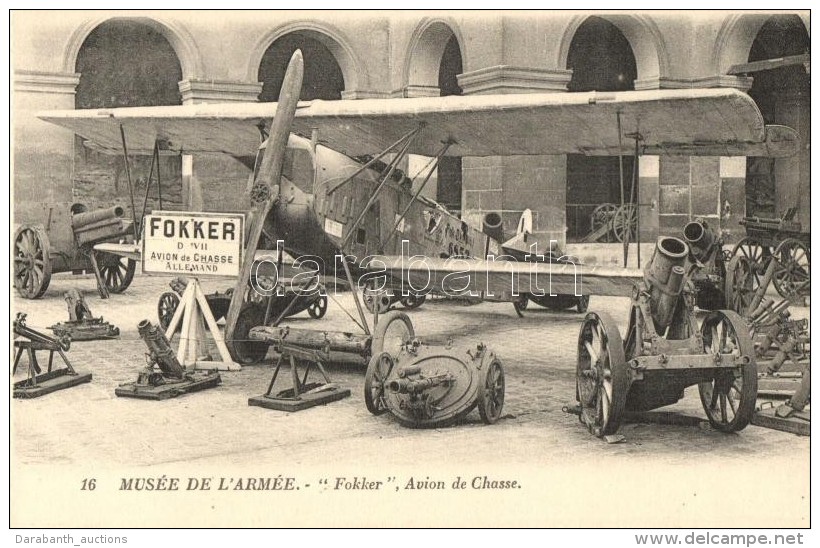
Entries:
[[[184,105],[255,102],[262,92],[262,83],[191,78],[179,83],[179,91]],[[255,150],[247,152],[249,157],[255,154]],[[184,155],[182,191],[186,209],[247,212],[250,173],[247,166],[230,157]]]

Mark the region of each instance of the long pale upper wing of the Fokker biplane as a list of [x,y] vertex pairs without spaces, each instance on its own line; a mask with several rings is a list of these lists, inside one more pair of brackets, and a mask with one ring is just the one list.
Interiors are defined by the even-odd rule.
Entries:
[[[94,146],[150,153],[154,140],[171,152],[249,156],[260,143],[275,103],[201,104],[52,111],[40,118]],[[618,117],[622,135],[619,143]],[[754,100],[731,89],[612,93],[534,93],[302,102],[293,131],[348,154],[374,154],[423,126],[409,152],[451,156],[643,154],[789,156],[797,133],[765,125]]]

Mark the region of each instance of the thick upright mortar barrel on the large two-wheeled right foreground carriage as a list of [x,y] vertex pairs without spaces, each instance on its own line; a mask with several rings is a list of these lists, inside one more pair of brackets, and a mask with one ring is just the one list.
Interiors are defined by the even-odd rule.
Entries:
[[689,246],[678,238],[658,238],[652,259],[644,269],[644,280],[649,286],[650,312],[655,329],[663,334],[672,323],[680,294],[683,291],[683,265],[689,255]]

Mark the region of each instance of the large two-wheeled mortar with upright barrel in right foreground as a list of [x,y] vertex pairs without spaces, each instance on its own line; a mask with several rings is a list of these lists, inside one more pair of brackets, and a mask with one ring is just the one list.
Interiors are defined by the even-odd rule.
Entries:
[[716,310],[698,328],[689,257],[683,240],[658,240],[632,296],[625,342],[607,314],[590,312],[584,319],[577,411],[594,435],[614,434],[628,412],[676,403],[693,385],[715,429],[735,432],[749,424],[757,397],[749,327],[737,313]]

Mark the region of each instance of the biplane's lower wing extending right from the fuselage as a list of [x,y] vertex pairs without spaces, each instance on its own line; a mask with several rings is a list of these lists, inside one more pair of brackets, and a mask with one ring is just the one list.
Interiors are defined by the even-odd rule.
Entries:
[[412,292],[495,296],[609,295],[629,297],[643,271],[608,266],[527,263],[481,259],[374,256],[364,265],[371,275],[404,280]]

